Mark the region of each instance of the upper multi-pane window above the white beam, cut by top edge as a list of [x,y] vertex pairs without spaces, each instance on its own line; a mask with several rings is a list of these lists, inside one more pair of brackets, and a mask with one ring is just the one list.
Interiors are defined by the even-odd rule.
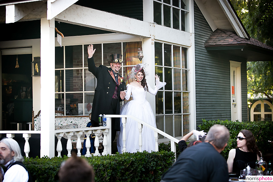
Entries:
[[187,31],[188,0],[154,0],[153,21],[158,25]]

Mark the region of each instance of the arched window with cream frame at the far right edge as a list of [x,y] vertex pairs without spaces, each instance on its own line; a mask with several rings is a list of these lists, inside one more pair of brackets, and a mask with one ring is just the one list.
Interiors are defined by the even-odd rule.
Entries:
[[251,121],[272,121],[273,107],[267,100],[258,100],[255,102],[250,110]]

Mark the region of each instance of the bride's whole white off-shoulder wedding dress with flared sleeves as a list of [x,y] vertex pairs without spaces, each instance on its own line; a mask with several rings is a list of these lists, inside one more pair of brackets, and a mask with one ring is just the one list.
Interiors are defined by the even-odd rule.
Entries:
[[[149,93],[156,95],[158,89],[166,85],[164,82],[160,82],[159,80],[156,80],[156,86],[154,89],[148,86]],[[133,96],[133,100],[131,100],[128,103],[125,103],[120,108],[120,114],[121,115],[132,115],[136,118],[150,124],[153,127],[156,126],[155,118],[153,115],[152,108],[150,106],[150,103],[146,100],[146,93],[144,88],[135,87],[132,85],[127,84],[127,91],[125,99],[130,99],[131,93]],[[123,134],[123,124],[120,121],[120,131],[117,132],[117,148],[118,152],[122,153],[123,149],[123,140],[122,140],[122,134]],[[133,153],[139,151],[139,130],[138,130],[138,123],[135,120],[132,120],[130,118],[127,118],[126,123],[126,151]],[[143,126],[142,129],[142,151],[146,150],[148,152],[155,150],[155,138],[154,138],[154,131],[147,128],[146,126]]]

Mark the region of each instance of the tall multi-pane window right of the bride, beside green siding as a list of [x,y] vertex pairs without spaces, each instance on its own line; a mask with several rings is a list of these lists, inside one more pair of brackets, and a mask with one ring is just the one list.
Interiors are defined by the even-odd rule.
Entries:
[[[155,73],[167,84],[156,95],[157,128],[171,136],[189,132],[187,48],[155,42]],[[163,136],[160,136],[162,138]]]

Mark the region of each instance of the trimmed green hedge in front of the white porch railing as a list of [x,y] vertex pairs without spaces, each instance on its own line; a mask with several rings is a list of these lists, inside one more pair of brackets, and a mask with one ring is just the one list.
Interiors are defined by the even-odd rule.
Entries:
[[[61,163],[68,157],[25,158],[34,181],[58,181]],[[122,153],[107,156],[84,157],[95,170],[95,181],[160,181],[162,174],[174,162],[174,153]]]

